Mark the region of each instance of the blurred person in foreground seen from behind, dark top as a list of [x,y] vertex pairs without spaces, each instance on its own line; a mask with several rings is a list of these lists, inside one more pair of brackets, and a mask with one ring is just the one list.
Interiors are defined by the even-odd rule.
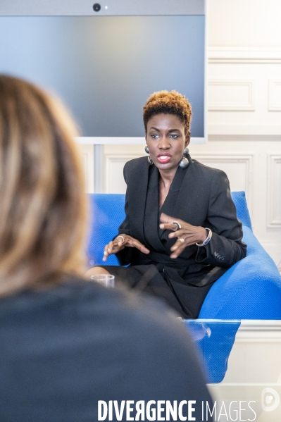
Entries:
[[94,422],[101,400],[194,400],[201,420],[211,398],[182,323],[156,299],[82,277],[73,135],[58,100],[0,75],[0,421]]

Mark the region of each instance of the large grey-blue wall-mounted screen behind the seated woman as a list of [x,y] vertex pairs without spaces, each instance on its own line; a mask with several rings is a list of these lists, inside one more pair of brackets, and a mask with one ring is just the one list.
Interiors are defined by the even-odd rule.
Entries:
[[204,14],[2,15],[0,40],[0,72],[56,92],[85,137],[143,137],[146,99],[175,89],[206,139]]

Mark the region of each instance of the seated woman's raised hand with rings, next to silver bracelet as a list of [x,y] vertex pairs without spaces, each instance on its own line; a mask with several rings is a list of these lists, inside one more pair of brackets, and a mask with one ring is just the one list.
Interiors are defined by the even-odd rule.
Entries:
[[177,258],[187,246],[195,243],[203,243],[208,236],[206,229],[203,227],[191,225],[180,220],[180,218],[173,218],[167,216],[167,214],[161,213],[160,221],[161,224],[159,227],[164,230],[175,230],[175,228],[177,228],[177,225],[173,223],[175,221],[181,226],[180,229],[173,231],[168,235],[170,239],[177,237],[177,241],[173,244],[173,247],[170,248],[172,251],[172,254],[170,255],[171,258]]

